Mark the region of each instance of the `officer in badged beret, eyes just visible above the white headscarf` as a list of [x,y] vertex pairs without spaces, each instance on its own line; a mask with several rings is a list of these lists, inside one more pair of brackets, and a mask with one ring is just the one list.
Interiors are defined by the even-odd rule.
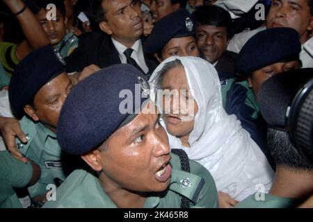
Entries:
[[162,62],[170,56],[200,56],[195,41],[195,24],[186,9],[163,17],[154,25],[144,51]]

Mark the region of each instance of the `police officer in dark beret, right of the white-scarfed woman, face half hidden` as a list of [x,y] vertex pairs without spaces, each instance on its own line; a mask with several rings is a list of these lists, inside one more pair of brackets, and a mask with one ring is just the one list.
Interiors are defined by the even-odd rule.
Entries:
[[257,93],[267,78],[300,68],[300,50],[300,37],[292,28],[269,28],[259,32],[239,53],[236,61],[239,79],[228,79],[222,86],[226,112],[236,114],[273,168],[275,164],[266,146],[266,122],[259,112]]

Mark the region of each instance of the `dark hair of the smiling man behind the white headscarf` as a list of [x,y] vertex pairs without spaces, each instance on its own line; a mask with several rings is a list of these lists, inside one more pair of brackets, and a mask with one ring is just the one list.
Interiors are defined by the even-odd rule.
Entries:
[[201,6],[194,13],[196,24],[202,26],[216,26],[225,27],[227,31],[227,37],[230,38],[232,31],[232,17],[227,10],[218,6]]

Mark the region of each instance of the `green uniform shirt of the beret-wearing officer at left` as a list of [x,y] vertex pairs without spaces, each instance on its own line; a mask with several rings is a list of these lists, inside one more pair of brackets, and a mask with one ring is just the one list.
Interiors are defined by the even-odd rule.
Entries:
[[47,185],[62,182],[66,178],[61,165],[61,147],[56,135],[42,123],[34,123],[27,117],[23,117],[19,123],[29,137],[27,144],[18,144],[19,151],[41,169],[40,180],[29,187],[29,194],[31,197],[46,194]]

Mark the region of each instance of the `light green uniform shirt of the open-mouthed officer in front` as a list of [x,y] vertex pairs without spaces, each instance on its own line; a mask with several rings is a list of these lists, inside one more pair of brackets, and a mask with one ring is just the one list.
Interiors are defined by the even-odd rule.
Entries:
[[[180,171],[179,157],[172,154],[169,189],[152,193],[146,198],[144,207],[178,208],[182,196],[191,200],[191,207],[218,207],[216,185],[209,171],[196,162],[190,160],[189,163],[191,173]],[[56,200],[47,202],[43,207],[115,208],[116,205],[106,195],[96,176],[77,170],[57,189]]]

